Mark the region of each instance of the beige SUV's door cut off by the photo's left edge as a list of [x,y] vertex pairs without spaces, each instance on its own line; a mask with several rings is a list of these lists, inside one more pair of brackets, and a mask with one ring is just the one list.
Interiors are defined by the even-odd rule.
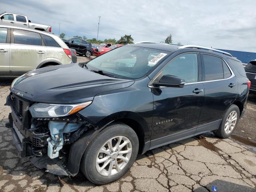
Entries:
[[0,75],[10,74],[10,28],[0,27]]

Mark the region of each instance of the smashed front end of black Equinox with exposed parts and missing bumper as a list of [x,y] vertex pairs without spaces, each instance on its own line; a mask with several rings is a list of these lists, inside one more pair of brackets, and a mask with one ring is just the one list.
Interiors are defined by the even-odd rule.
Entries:
[[[6,105],[11,107],[12,112],[6,126],[12,130],[18,155],[28,157],[37,168],[46,168],[46,172],[76,175],[80,158],[88,145],[83,140],[76,147],[76,142],[82,135],[91,132],[89,130],[95,131],[96,126],[78,113],[57,118],[33,118],[28,110],[32,104],[12,93],[7,98]],[[76,154],[73,155],[75,159],[70,157],[72,154]],[[74,164],[78,167],[74,168]]]

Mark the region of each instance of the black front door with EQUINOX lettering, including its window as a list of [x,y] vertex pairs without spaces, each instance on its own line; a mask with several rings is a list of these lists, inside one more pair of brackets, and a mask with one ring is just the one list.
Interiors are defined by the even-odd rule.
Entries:
[[196,133],[204,101],[204,86],[198,78],[201,73],[198,58],[197,53],[178,55],[157,76],[156,80],[167,74],[177,76],[186,83],[182,88],[152,88],[154,117],[150,148]]

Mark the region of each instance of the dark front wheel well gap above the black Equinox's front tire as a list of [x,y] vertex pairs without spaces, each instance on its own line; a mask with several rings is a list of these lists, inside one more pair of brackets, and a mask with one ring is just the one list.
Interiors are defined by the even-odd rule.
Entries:
[[139,139],[139,153],[142,152],[143,150],[143,146],[144,146],[144,131],[142,126],[135,120],[133,119],[117,119],[114,122],[122,122],[126,125],[128,125],[129,127],[131,127],[137,134],[138,139]]

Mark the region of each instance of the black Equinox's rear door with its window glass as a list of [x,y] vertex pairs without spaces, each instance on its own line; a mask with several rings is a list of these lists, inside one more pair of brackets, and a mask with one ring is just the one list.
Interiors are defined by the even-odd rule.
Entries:
[[197,133],[217,129],[238,94],[238,82],[223,58],[200,54],[205,96]]

